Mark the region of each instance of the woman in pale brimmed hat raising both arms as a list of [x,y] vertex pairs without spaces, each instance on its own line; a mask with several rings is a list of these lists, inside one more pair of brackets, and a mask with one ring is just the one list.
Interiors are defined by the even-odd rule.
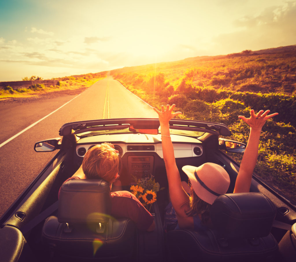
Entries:
[[[163,159],[168,176],[170,200],[176,211],[178,227],[180,229],[198,230],[204,226],[210,226],[210,206],[216,197],[227,192],[230,179],[226,170],[214,163],[205,163],[199,167],[186,165],[182,170],[191,182],[191,196],[187,195],[182,187],[174,156],[173,143],[170,139],[169,120],[181,114],[181,112],[173,113],[174,107],[175,105],[171,107],[162,105],[161,112],[153,108],[159,116]],[[239,116],[250,126],[250,136],[235,182],[234,193],[250,191],[252,173],[257,162],[261,129],[267,119],[278,115],[278,113],[268,115],[270,110],[263,112],[263,110],[260,110],[255,115],[254,110],[251,110],[250,118]]]

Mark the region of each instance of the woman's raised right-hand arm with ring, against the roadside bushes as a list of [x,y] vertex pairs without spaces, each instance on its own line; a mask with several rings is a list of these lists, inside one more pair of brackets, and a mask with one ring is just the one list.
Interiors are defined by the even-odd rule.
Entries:
[[237,180],[235,181],[234,193],[250,192],[252,174],[257,163],[259,139],[262,127],[267,119],[278,115],[278,113],[268,115],[270,110],[263,112],[263,110],[260,110],[257,115],[255,115],[254,110],[251,110],[249,118],[239,115],[239,118],[250,126],[250,135],[239,168]]

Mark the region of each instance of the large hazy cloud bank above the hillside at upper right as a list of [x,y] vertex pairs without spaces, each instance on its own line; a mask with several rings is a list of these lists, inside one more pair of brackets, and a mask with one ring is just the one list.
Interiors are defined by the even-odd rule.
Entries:
[[239,30],[213,38],[213,49],[220,54],[253,51],[296,43],[296,2],[265,9],[258,16],[234,21]]

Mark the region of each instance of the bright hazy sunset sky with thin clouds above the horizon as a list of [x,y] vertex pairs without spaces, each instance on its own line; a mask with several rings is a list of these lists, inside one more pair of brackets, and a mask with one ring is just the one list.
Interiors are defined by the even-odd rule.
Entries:
[[0,0],[0,81],[296,44],[296,0]]

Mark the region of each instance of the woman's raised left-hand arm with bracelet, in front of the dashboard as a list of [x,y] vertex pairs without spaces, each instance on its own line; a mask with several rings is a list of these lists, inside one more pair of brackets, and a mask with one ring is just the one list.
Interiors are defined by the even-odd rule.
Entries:
[[188,218],[185,212],[190,207],[189,196],[186,194],[181,184],[180,173],[178,171],[174,155],[173,143],[170,138],[169,120],[176,115],[181,114],[181,112],[173,113],[172,111],[174,107],[175,105],[172,105],[171,107],[169,105],[166,105],[166,107],[162,105],[161,112],[155,107],[153,109],[159,116],[163,159],[165,161],[165,169],[168,176],[170,200],[172,201],[172,205],[176,210],[178,223],[180,226],[182,226],[182,224],[184,224],[182,223],[182,219],[186,220],[186,218]]

